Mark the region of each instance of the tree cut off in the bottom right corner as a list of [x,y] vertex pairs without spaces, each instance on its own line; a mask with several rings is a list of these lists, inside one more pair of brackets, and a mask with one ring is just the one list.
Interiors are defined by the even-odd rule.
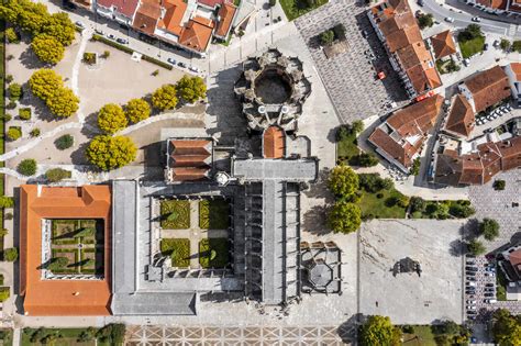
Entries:
[[521,345],[521,315],[498,309],[492,315],[492,336],[499,346]]

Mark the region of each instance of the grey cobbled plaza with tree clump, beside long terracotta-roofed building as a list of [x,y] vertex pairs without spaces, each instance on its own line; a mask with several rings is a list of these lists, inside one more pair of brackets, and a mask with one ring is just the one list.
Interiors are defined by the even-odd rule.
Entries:
[[[347,51],[326,58],[318,35],[339,23],[346,30]],[[300,16],[295,24],[344,123],[386,114],[390,111],[391,101],[406,99],[364,7],[353,0],[329,2]],[[366,38],[362,31],[365,31]],[[370,58],[372,55],[374,58]],[[384,80],[376,78],[379,71],[386,74]]]

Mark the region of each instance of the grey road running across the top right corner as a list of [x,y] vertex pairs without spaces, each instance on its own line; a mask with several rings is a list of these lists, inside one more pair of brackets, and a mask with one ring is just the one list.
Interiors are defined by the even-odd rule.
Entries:
[[[447,16],[453,18],[454,22],[450,25],[455,27],[465,27],[468,24],[474,23],[472,21],[473,16],[479,15],[481,16],[481,22],[478,24],[481,26],[481,30],[485,33],[506,35],[511,38],[521,38],[519,25],[484,18],[486,13],[467,4],[457,3],[457,5],[465,8],[458,10],[453,7],[442,5],[441,3],[436,2],[436,0],[423,0],[423,7],[421,10],[426,13],[432,13],[434,19],[439,22],[443,22]],[[494,16],[499,18],[498,15]]]

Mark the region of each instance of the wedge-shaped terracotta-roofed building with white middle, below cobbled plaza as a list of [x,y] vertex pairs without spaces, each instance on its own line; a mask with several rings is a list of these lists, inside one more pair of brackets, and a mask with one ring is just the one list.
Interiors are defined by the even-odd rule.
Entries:
[[376,146],[377,153],[407,171],[434,126],[442,103],[443,97],[435,94],[399,110],[376,127],[369,143]]

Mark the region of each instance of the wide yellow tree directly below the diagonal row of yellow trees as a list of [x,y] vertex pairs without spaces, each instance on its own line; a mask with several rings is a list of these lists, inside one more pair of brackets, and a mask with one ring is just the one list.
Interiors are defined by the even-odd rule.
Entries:
[[133,161],[137,148],[131,138],[125,136],[96,136],[87,147],[87,159],[102,170],[123,167]]

